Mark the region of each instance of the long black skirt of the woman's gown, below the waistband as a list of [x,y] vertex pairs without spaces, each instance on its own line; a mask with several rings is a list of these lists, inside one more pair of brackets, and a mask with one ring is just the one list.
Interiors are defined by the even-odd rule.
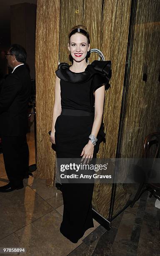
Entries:
[[[82,158],[82,149],[88,143],[94,117],[60,115],[55,122],[55,149],[57,158]],[[94,150],[93,158],[96,158]],[[92,194],[94,183],[62,183],[63,220],[60,232],[72,243],[94,227]]]

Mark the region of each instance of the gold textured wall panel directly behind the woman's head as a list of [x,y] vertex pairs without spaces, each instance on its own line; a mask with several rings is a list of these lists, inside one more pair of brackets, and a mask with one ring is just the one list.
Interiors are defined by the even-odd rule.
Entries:
[[[96,6],[96,8],[95,8]],[[68,33],[75,25],[84,25],[90,33],[91,48],[100,49],[102,23],[102,0],[61,0],[60,1],[60,62],[69,61],[67,49]],[[91,54],[89,62],[98,59]]]

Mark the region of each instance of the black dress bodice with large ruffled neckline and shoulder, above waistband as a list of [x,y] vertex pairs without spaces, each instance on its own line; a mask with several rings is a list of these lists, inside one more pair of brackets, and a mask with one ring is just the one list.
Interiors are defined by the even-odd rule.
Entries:
[[[61,106],[67,109],[85,110],[94,112],[94,92],[103,84],[105,90],[110,87],[112,75],[111,61],[93,61],[88,64],[84,72],[75,73],[69,64],[60,63],[56,70],[60,78]],[[105,142],[104,125],[101,124],[97,135],[96,148],[99,150],[101,141]]]

